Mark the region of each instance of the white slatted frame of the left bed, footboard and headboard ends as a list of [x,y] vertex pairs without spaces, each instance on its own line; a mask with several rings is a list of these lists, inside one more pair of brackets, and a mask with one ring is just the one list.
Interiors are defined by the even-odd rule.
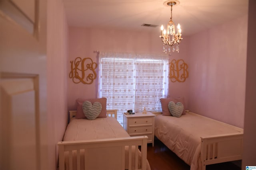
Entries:
[[[76,111],[70,111],[70,119],[76,115]],[[107,110],[108,117],[117,117],[117,110]],[[80,170],[80,151],[85,149],[112,149],[111,155],[106,154],[105,158],[95,158],[97,160],[97,168],[95,167],[95,162],[92,163],[90,155],[88,157],[84,156],[84,167],[85,169],[112,169],[112,170],[124,170],[125,163],[128,161],[128,170],[132,170],[132,146],[135,146],[135,169],[138,169],[139,153],[138,146],[141,146],[141,169],[146,170],[146,161],[147,161],[147,136],[141,137],[123,137],[123,138],[113,138],[113,139],[95,139],[95,140],[85,140],[85,141],[62,141],[58,142],[59,147],[59,170],[65,170],[65,152],[68,152],[69,155],[69,170],[73,170],[73,156],[72,151],[76,151],[76,164],[77,170]],[[125,147],[128,149],[128,160],[125,160]],[[114,148],[114,150],[113,150]],[[114,156],[113,156],[114,155]],[[88,161],[87,158],[90,157]],[[115,168],[108,167],[108,165],[114,165]],[[98,166],[102,166],[99,168]],[[116,168],[118,166],[118,168]],[[90,168],[88,168],[90,167]]]

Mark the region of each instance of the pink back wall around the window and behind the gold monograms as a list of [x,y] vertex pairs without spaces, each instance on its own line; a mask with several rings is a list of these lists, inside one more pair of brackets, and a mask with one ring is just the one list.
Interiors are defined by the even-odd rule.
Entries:
[[[76,57],[90,57],[97,61],[96,53],[93,51],[113,51],[143,54],[160,54],[162,43],[159,38],[160,28],[142,28],[143,31],[130,31],[120,29],[89,29],[69,28],[69,57],[68,72],[70,72],[70,61]],[[186,39],[186,38],[184,38]],[[185,41],[184,41],[185,42]],[[170,59],[186,58],[186,42],[180,45],[180,53],[172,55]],[[186,83],[171,83],[170,94],[173,96],[186,96]],[[92,84],[74,84],[68,78],[68,109],[76,109],[77,98],[96,98],[97,81]]]

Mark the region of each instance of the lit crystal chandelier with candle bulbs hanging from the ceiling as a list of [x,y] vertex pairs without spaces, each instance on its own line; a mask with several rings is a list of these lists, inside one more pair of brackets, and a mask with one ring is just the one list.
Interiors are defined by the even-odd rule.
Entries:
[[164,26],[161,26],[161,35],[159,36],[163,43],[163,51],[165,53],[167,52],[174,52],[177,51],[179,52],[180,48],[179,48],[179,44],[182,40],[181,37],[181,29],[180,29],[180,24],[178,24],[177,26],[177,33],[175,33],[175,24],[172,21],[172,6],[176,5],[175,1],[169,1],[167,2],[168,6],[171,6],[171,18],[169,23],[167,24],[167,31],[166,29],[164,29]]

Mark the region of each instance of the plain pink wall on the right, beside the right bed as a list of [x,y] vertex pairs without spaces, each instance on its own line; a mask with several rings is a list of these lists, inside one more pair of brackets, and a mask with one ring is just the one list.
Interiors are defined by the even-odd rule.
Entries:
[[189,37],[188,108],[244,126],[247,18],[244,16]]

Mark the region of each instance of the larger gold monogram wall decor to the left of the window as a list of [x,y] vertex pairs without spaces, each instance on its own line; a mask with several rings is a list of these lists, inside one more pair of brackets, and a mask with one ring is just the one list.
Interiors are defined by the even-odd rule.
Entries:
[[74,61],[70,61],[70,63],[71,71],[69,78],[72,78],[74,83],[92,84],[93,80],[96,79],[95,69],[98,64],[94,63],[91,58],[81,59],[77,57]]

